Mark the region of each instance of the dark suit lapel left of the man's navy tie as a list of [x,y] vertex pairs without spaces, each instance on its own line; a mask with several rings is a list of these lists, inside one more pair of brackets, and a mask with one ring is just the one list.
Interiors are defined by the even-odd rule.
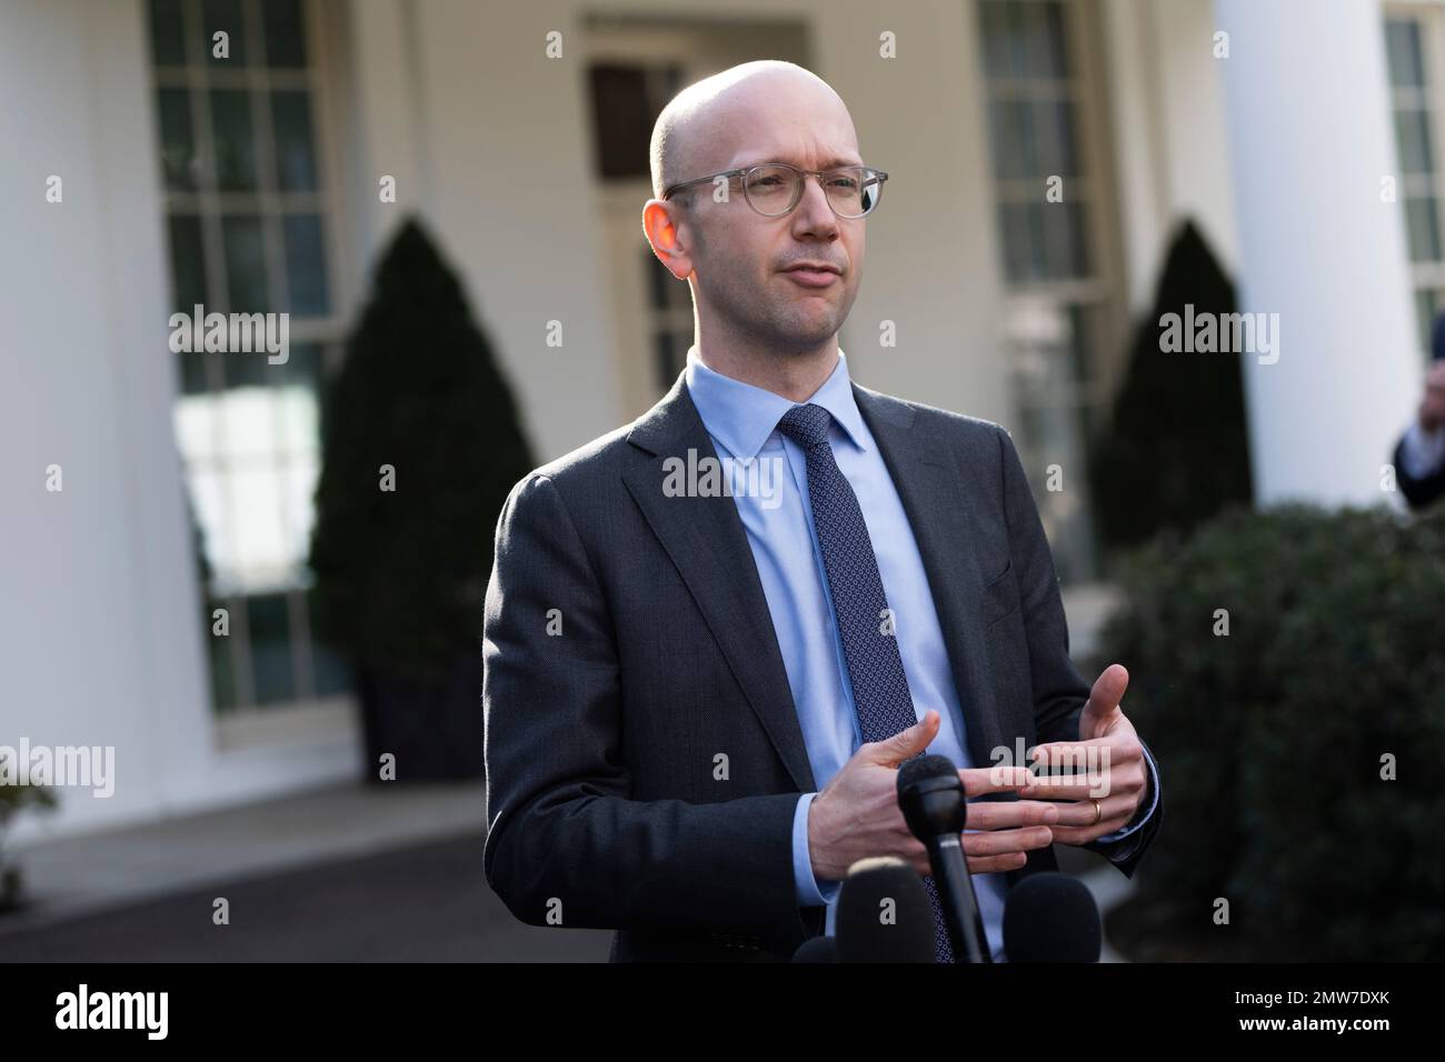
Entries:
[[663,462],[669,457],[686,464],[692,449],[695,459],[717,458],[688,394],[685,376],[678,376],[662,402],[637,420],[627,441],[650,455],[623,474],[629,493],[688,585],[799,792],[815,790],[788,669],[737,503],[727,494],[668,497],[662,493]]

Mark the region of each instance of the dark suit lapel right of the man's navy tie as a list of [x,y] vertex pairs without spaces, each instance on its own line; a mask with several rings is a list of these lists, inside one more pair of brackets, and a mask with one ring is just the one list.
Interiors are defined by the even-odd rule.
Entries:
[[975,767],[991,766],[990,753],[1004,743],[1004,728],[978,623],[983,577],[968,529],[965,491],[971,480],[958,468],[948,438],[919,419],[912,406],[857,383],[853,394],[893,477],[923,558],[964,709],[970,756]]

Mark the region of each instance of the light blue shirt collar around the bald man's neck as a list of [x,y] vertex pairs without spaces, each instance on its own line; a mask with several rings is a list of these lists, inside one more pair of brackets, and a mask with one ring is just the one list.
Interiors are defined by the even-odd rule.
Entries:
[[853,397],[848,358],[841,350],[832,373],[803,403],[789,402],[782,394],[708,368],[698,358],[696,344],[688,348],[686,383],[692,405],[702,418],[702,426],[727,446],[733,457],[757,457],[783,413],[795,405],[809,403],[827,409],[853,439],[853,445],[861,451],[868,449],[868,433],[864,431],[858,403]]

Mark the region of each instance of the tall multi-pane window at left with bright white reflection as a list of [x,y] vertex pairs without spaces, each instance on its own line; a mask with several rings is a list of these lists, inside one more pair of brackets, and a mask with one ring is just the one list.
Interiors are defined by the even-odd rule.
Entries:
[[[173,309],[289,314],[289,358],[181,353],[175,431],[218,712],[350,686],[311,639],[305,559],[340,355],[318,75],[301,0],[149,0]],[[212,42],[224,33],[228,56]],[[212,611],[230,614],[212,636]]]

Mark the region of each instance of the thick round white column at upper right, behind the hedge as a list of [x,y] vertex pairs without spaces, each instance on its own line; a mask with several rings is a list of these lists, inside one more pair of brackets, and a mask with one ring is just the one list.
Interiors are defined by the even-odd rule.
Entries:
[[[1419,399],[1403,202],[1377,0],[1217,0],[1240,309],[1279,314],[1247,357],[1260,503],[1371,504]],[[1199,40],[1211,48],[1211,40]]]

